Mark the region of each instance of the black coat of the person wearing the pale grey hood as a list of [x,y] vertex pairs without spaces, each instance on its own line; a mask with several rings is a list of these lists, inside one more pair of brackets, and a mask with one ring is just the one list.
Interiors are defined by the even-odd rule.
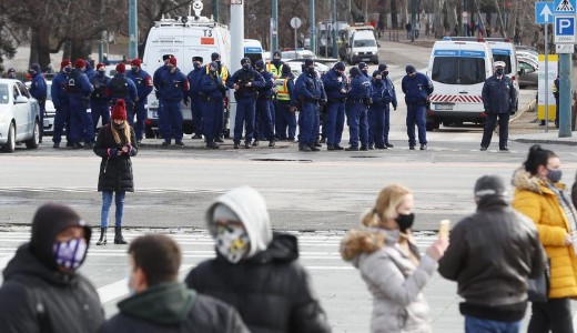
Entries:
[[264,252],[236,264],[217,254],[194,268],[185,283],[236,307],[253,333],[331,332],[297,258],[296,238],[274,234]]

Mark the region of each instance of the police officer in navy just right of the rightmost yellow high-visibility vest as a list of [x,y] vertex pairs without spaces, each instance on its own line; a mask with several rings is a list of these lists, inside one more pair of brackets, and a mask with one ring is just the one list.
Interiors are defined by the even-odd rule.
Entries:
[[314,61],[304,60],[303,73],[296,79],[295,98],[300,102],[298,115],[298,150],[304,152],[318,151],[315,147],[318,134],[318,105],[325,97],[323,82],[314,70]]

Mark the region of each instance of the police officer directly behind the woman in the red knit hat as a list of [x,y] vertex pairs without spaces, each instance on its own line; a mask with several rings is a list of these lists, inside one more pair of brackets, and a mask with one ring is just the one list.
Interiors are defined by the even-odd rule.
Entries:
[[134,101],[136,101],[138,91],[134,82],[126,78],[126,65],[124,62],[117,64],[117,73],[114,78],[107,83],[107,95],[111,105],[117,103],[118,99],[123,99],[126,104],[126,120],[131,127],[134,125]]

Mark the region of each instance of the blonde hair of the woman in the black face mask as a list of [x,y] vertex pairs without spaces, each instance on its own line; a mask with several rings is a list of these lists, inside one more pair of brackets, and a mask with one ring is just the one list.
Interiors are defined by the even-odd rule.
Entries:
[[364,215],[363,225],[378,228],[384,221],[393,219],[396,215],[397,206],[407,194],[413,194],[413,192],[402,184],[392,184],[381,190],[375,206]]

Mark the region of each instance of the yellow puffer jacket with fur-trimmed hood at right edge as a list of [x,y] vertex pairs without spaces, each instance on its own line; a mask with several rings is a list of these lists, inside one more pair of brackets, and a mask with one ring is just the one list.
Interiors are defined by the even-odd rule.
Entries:
[[[549,299],[577,296],[577,256],[574,245],[565,245],[569,221],[557,195],[537,176],[525,169],[513,175],[515,195],[513,206],[535,222],[539,239],[550,259],[551,281]],[[565,185],[557,183],[560,190]]]

